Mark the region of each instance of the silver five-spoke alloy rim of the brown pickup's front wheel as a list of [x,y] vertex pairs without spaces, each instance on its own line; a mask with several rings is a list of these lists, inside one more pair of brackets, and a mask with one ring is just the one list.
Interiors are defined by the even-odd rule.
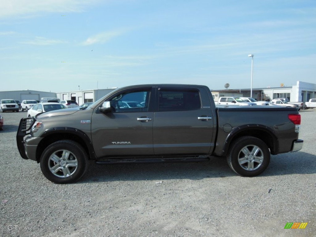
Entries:
[[57,177],[69,177],[76,172],[78,160],[69,150],[58,150],[48,159],[49,170]]

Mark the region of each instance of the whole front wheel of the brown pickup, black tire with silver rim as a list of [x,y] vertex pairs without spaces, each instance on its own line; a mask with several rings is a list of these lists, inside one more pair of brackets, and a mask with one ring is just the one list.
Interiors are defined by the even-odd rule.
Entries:
[[87,161],[88,156],[79,143],[61,140],[44,150],[40,158],[40,168],[50,181],[68,184],[82,177],[87,168]]

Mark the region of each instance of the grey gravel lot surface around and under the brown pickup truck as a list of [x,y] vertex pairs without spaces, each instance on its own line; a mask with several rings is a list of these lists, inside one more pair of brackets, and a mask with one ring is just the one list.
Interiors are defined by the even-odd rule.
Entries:
[[[271,157],[258,177],[226,159],[99,166],[75,184],[48,181],[15,135],[26,112],[1,113],[1,236],[315,236],[316,109],[303,110],[299,152]],[[307,222],[305,229],[284,229]]]

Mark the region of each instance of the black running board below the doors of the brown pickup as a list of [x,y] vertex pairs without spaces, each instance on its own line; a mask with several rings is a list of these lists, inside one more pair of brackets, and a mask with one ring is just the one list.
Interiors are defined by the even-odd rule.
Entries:
[[104,160],[96,160],[95,163],[98,165],[120,165],[120,164],[157,164],[157,163],[187,163],[187,162],[204,162],[209,161],[209,156],[197,156],[197,157],[185,157],[185,158],[109,158]]

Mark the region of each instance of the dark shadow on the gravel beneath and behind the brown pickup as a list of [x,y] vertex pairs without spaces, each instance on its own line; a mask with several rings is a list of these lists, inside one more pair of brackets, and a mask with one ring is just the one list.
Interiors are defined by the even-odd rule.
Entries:
[[[279,176],[288,174],[315,174],[315,155],[295,152],[271,156],[268,168],[260,176]],[[87,172],[80,183],[168,180],[205,178],[225,178],[239,176],[234,173],[225,158],[213,157],[209,162],[200,163],[166,163],[166,164],[128,164],[97,165],[89,161]],[[260,177],[259,176],[259,177]]]

